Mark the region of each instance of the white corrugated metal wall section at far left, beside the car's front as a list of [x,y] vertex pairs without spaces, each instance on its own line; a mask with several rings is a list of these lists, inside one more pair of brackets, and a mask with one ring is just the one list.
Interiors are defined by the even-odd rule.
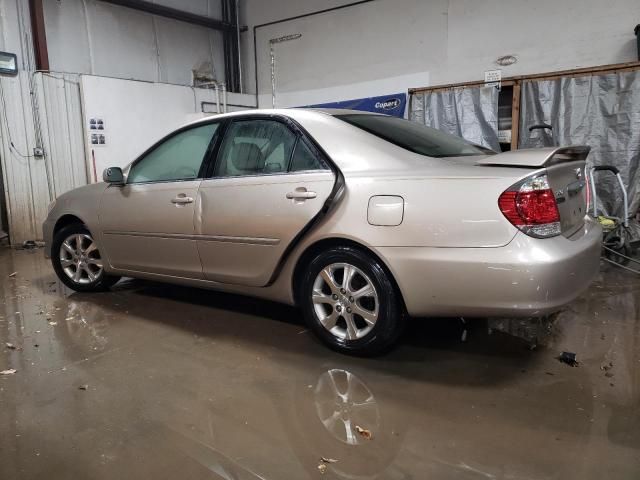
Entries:
[[[20,72],[1,77],[0,85],[0,157],[11,243],[41,240],[49,202],[87,182],[78,78]],[[33,155],[34,146],[44,148],[44,157]]]

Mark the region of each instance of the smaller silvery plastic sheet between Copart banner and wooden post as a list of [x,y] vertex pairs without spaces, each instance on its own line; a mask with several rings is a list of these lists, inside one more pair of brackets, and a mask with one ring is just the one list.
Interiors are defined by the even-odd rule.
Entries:
[[498,95],[495,87],[459,87],[411,94],[409,120],[497,152]]

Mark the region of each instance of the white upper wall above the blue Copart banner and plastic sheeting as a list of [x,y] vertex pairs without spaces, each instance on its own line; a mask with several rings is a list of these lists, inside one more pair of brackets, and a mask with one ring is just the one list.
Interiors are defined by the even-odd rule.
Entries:
[[[351,2],[245,0],[244,65],[255,92],[252,26]],[[278,103],[346,100],[453,82],[629,62],[638,0],[375,0],[258,29],[260,105],[271,103],[269,39],[275,46]],[[512,54],[518,63],[498,67]],[[357,94],[363,92],[362,95]]]

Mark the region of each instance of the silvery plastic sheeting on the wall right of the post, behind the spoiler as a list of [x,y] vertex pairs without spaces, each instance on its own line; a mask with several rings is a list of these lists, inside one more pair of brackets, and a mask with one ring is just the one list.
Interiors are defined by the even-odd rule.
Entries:
[[[527,81],[522,84],[520,148],[589,145],[587,165],[618,167],[629,193],[629,213],[640,207],[640,72]],[[552,133],[534,130],[548,123]],[[601,211],[621,217],[620,186],[596,173]]]

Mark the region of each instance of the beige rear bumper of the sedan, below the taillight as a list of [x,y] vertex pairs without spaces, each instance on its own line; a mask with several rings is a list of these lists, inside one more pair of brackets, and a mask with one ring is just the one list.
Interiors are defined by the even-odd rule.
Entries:
[[602,231],[587,219],[571,238],[522,233],[499,248],[381,247],[413,316],[517,316],[557,311],[588,288]]

